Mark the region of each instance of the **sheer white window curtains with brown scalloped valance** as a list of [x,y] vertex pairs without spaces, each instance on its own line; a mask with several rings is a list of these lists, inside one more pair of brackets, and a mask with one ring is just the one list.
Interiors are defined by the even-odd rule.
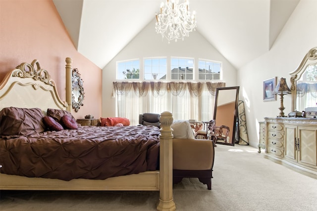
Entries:
[[174,120],[210,121],[215,90],[224,82],[113,82],[116,116],[137,125],[139,114],[169,111]]

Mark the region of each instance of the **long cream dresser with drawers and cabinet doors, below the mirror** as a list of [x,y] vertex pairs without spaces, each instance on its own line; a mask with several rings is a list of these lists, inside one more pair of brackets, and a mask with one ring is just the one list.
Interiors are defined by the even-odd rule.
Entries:
[[278,117],[264,121],[265,157],[317,178],[317,119]]

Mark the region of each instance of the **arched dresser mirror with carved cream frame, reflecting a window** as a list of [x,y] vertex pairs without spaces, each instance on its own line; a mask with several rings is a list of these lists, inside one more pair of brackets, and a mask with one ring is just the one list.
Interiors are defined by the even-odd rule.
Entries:
[[302,112],[305,108],[317,107],[317,47],[308,51],[290,75],[292,111]]

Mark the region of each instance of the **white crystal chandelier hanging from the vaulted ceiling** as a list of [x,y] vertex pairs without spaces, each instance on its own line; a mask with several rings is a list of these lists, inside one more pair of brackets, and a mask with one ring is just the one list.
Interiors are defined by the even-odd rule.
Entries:
[[168,40],[168,43],[171,40],[184,40],[184,37],[189,37],[189,32],[196,31],[195,11],[192,15],[188,11],[188,0],[178,2],[179,0],[161,2],[159,14],[156,14],[155,29]]

